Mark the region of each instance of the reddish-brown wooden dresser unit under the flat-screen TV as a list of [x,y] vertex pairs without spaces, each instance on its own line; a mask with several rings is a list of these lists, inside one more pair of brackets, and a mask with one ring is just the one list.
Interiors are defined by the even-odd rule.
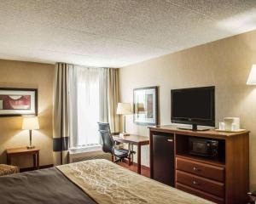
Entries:
[[[149,127],[150,177],[154,178],[154,135],[174,138],[175,187],[209,201],[247,203],[249,190],[249,132],[189,131],[174,126]],[[218,139],[218,160],[189,155],[189,137]],[[170,155],[170,160],[172,155]],[[172,178],[170,178],[172,179]]]

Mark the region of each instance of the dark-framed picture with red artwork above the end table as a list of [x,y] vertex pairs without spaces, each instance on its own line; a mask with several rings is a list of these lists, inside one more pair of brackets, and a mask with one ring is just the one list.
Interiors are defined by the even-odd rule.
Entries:
[[38,116],[37,88],[0,88],[0,116]]

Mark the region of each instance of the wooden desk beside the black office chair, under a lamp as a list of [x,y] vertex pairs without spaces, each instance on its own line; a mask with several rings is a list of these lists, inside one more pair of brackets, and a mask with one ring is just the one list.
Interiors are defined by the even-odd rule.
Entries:
[[145,136],[140,136],[136,134],[130,134],[120,138],[119,136],[113,136],[113,140],[116,140],[121,143],[129,143],[137,145],[137,173],[141,173],[142,170],[142,157],[141,157],[141,146],[149,144],[149,138]]

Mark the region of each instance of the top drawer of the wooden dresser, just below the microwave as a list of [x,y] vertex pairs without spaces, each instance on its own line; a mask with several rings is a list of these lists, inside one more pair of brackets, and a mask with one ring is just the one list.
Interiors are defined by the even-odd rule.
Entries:
[[224,167],[176,157],[176,169],[224,182]]

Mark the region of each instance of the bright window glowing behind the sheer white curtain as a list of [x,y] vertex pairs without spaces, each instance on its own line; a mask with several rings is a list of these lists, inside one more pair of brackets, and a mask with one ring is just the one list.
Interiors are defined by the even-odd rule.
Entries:
[[99,71],[80,68],[78,72],[78,144],[99,144]]

